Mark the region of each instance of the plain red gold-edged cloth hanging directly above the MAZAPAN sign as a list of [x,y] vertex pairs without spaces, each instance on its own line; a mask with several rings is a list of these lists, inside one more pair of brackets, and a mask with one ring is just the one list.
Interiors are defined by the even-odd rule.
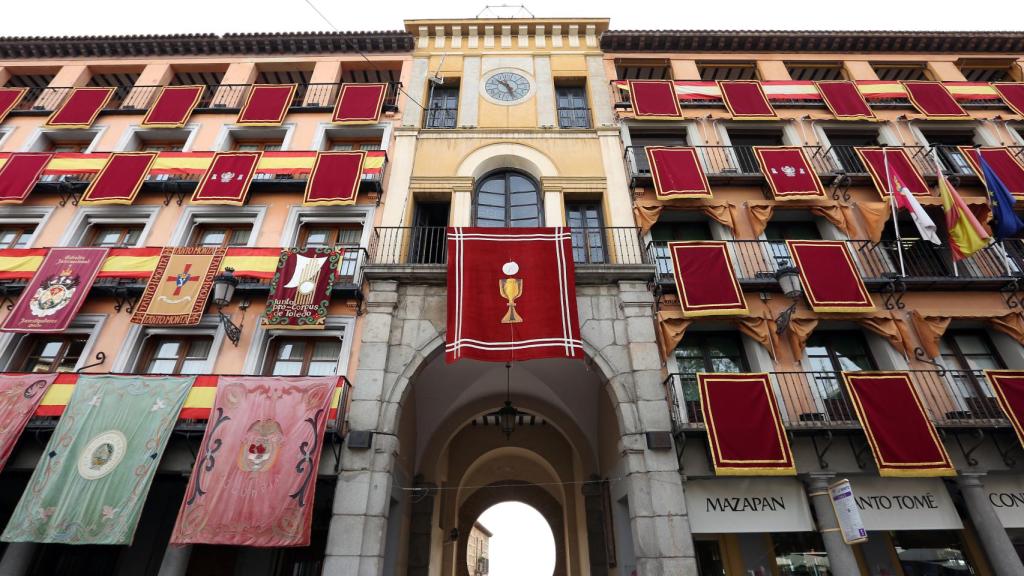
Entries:
[[697,374],[697,387],[716,475],[797,474],[768,374]]

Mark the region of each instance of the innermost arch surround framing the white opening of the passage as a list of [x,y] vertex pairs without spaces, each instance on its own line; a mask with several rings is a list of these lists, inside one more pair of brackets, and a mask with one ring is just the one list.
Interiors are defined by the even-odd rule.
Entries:
[[[470,576],[466,566],[466,536],[473,529],[473,523],[487,508],[502,502],[522,502],[532,506],[548,521],[555,537],[555,570],[552,576],[566,576],[565,569],[565,511],[558,500],[545,489],[525,482],[496,482],[478,489],[459,508],[459,548],[456,558],[456,576]],[[545,575],[546,576],[546,575]]]

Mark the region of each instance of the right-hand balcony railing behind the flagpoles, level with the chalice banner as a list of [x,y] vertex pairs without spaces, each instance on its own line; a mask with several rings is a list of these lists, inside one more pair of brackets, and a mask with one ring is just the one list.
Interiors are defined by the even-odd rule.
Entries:
[[[903,240],[903,270],[900,275],[899,246],[896,241],[878,244],[868,240],[847,240],[857,271],[869,291],[892,288],[894,281],[918,290],[991,290],[1005,288],[1024,276],[1024,243],[1007,240],[957,262],[954,266],[948,246],[923,240]],[[726,249],[736,280],[744,290],[777,289],[775,272],[793,262],[785,241],[729,240]],[[647,244],[656,279],[664,291],[674,292],[675,279],[668,242]]]

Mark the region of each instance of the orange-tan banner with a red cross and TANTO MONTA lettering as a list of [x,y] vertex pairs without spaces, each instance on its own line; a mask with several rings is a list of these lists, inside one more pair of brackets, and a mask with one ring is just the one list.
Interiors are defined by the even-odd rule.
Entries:
[[203,319],[223,248],[164,248],[132,315],[133,324],[195,326]]

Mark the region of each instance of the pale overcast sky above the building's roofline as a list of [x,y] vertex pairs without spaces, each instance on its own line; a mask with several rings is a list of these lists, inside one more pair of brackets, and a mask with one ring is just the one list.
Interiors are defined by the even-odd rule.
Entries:
[[[488,1],[311,0],[339,30],[400,30],[402,19],[474,17]],[[509,1],[509,0],[505,0]],[[515,1],[515,0],[512,0]],[[330,30],[306,0],[48,0],[8,3],[0,36],[307,32]],[[1024,28],[1020,0],[544,0],[527,2],[538,17],[610,17],[611,27],[755,30],[1007,30]],[[515,9],[502,9],[503,15]],[[1016,14],[1016,18],[1010,18]]]

